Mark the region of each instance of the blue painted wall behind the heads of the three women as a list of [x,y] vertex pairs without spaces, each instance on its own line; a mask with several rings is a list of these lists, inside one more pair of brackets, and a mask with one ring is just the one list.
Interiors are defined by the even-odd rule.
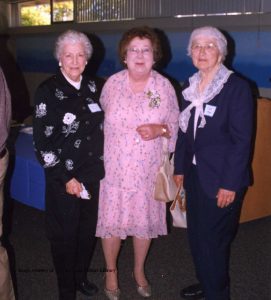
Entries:
[[[256,85],[271,88],[271,32],[228,32],[231,67],[254,81]],[[167,31],[165,36],[169,42],[170,61],[164,71],[178,81],[184,81],[193,72],[190,58],[186,54],[189,33]],[[109,76],[119,70],[121,65],[117,55],[119,34],[99,34],[103,45],[95,49],[103,52],[97,75]],[[17,61],[23,72],[54,73],[57,62],[53,57],[54,35],[29,35],[17,37]],[[95,55],[94,55],[95,57]]]

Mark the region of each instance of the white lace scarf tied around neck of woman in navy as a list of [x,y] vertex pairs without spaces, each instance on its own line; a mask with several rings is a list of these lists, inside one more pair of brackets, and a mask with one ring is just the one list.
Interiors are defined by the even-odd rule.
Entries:
[[216,95],[220,93],[224,84],[227,82],[229,76],[233,73],[228,70],[224,65],[220,65],[212,81],[207,85],[204,92],[198,93],[198,86],[201,80],[200,72],[197,72],[189,78],[189,87],[183,90],[182,94],[186,101],[190,101],[189,104],[180,114],[179,126],[183,132],[186,132],[188,122],[191,117],[191,109],[196,108],[199,112],[200,124],[199,128],[203,128],[206,124],[206,119],[203,113],[203,103],[208,103]]

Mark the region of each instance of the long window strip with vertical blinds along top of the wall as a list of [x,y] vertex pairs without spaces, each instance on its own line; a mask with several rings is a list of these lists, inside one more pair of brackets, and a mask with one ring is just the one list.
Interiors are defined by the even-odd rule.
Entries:
[[[1,0],[0,0],[1,1]],[[7,2],[6,2],[7,1]],[[270,0],[6,0],[11,26],[269,14]]]

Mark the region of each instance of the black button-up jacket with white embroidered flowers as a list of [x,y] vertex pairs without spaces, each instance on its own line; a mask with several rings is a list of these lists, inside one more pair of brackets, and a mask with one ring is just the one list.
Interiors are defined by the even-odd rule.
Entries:
[[103,178],[101,86],[83,76],[79,90],[59,71],[35,94],[34,148],[47,177],[63,184]]

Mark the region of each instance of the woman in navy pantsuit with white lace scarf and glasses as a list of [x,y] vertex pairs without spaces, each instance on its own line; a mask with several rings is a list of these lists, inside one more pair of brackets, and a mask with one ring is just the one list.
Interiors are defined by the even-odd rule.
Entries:
[[186,190],[199,284],[183,289],[181,296],[229,300],[230,245],[250,184],[253,100],[247,82],[223,64],[227,40],[218,29],[195,29],[188,55],[198,72],[183,87],[175,179]]

